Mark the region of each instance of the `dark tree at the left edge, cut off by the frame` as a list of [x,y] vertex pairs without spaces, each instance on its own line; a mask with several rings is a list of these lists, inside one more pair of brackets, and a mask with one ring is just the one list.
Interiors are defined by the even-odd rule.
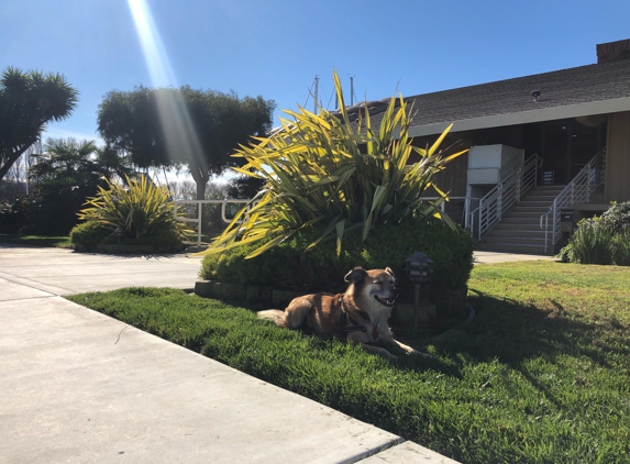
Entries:
[[0,79],[0,179],[33,145],[45,124],[69,117],[78,92],[60,74],[8,67]]

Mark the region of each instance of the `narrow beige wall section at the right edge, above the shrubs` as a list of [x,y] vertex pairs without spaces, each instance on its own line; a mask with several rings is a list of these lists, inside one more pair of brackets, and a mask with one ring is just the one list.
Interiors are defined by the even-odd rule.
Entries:
[[606,201],[630,200],[630,111],[608,117]]

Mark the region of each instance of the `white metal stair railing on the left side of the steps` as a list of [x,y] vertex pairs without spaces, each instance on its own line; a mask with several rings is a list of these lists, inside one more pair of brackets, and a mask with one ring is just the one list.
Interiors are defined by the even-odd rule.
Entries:
[[510,175],[497,184],[479,200],[479,206],[468,211],[466,205],[465,227],[475,234],[475,217],[477,217],[477,237],[500,221],[504,213],[537,184],[539,168],[538,155],[531,156],[523,165],[515,169]]

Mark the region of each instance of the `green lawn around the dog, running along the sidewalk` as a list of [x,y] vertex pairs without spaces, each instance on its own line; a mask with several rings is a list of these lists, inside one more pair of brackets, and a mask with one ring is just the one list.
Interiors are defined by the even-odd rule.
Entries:
[[70,297],[464,463],[630,463],[630,268],[479,265],[475,320],[398,364],[174,289]]

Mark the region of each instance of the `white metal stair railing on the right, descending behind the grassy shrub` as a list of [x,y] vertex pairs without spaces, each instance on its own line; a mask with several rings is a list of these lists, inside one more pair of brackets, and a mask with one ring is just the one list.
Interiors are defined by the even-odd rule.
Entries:
[[[606,148],[601,148],[573,180],[555,197],[548,212],[540,217],[540,228],[544,230],[544,252],[553,247],[561,235],[561,219],[563,209],[573,209],[575,205],[587,203],[590,196],[604,185],[604,163]],[[551,237],[550,237],[551,233]]]

